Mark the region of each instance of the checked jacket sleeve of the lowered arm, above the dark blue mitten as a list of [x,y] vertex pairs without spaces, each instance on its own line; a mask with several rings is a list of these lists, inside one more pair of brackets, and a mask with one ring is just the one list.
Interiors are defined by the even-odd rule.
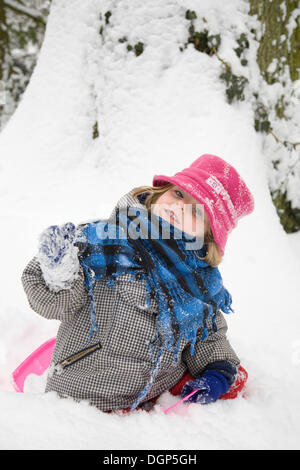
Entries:
[[216,314],[216,332],[213,331],[212,320],[209,319],[207,323],[208,337],[201,341],[200,338],[203,334],[203,328],[199,328],[194,354],[191,355],[190,344],[183,350],[182,359],[193,377],[199,377],[209,364],[218,361],[229,362],[234,367],[238,367],[240,364],[238,356],[226,338],[228,327],[221,310],[218,310]]

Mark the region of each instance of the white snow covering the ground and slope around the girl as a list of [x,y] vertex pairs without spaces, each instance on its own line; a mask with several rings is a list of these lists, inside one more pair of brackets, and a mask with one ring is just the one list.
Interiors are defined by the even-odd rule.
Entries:
[[[37,66],[0,135],[0,447],[299,448],[300,237],[284,232],[269,193],[270,161],[280,147],[253,128],[250,90],[271,103],[282,89],[263,83],[252,39],[249,68],[232,52],[256,21],[247,2],[52,3]],[[192,44],[179,50],[187,41],[186,9],[197,12],[196,29],[222,32],[220,57],[251,82],[244,102],[226,102],[216,57]],[[142,54],[127,51],[139,41]],[[276,130],[284,135],[285,125],[276,122]],[[165,392],[149,413],[118,416],[44,394],[45,376],[29,377],[25,393],[15,393],[11,372],[59,326],[30,309],[21,285],[39,234],[52,224],[107,217],[129,189],[151,184],[154,174],[173,175],[203,153],[234,165],[255,199],[220,265],[236,312],[226,316],[228,338],[249,374],[246,398],[181,404],[165,415],[177,400]]]

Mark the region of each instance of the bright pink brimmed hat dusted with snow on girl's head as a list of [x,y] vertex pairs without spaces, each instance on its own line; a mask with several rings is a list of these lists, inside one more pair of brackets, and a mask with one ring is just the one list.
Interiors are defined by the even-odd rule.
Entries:
[[204,205],[222,256],[238,219],[254,210],[254,198],[235,168],[216,155],[201,155],[174,176],[154,175],[153,186],[173,183]]

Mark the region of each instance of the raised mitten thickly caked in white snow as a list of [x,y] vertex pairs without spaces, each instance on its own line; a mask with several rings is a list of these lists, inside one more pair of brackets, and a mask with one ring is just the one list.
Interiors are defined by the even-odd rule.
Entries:
[[51,225],[39,236],[37,259],[47,286],[54,292],[70,288],[78,276],[76,240],[77,230],[72,222]]

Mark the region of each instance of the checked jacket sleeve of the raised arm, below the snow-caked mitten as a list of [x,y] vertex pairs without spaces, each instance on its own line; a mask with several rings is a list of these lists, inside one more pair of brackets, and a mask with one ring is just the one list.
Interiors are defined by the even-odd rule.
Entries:
[[70,289],[53,292],[47,287],[35,256],[24,269],[21,281],[30,307],[48,319],[70,321],[88,301],[82,266]]

